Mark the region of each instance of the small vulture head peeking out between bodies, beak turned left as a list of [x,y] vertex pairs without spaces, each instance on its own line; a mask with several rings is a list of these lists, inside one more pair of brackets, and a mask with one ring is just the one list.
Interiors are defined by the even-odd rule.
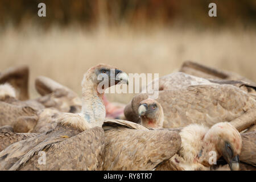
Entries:
[[141,125],[145,127],[163,127],[164,114],[162,106],[155,100],[146,99],[140,102],[138,108]]

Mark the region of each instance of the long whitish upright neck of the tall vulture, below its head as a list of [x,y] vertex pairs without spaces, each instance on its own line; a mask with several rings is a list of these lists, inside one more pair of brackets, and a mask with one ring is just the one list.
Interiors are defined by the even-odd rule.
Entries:
[[98,84],[92,79],[84,77],[82,82],[82,115],[91,127],[102,127],[106,115],[105,106],[102,101],[104,93],[97,91]]

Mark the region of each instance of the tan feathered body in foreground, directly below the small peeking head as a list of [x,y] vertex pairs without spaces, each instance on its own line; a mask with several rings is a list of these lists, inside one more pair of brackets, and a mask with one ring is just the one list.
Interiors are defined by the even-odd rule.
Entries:
[[148,130],[129,121],[104,122],[104,170],[152,170],[180,147],[175,131]]

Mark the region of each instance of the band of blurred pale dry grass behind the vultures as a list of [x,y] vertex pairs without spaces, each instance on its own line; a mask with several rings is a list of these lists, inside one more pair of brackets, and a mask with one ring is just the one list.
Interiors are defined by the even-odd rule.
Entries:
[[[177,71],[183,61],[193,60],[237,72],[256,81],[255,30],[198,31],[193,28],[98,28],[87,32],[79,27],[35,27],[0,34],[0,71],[15,65],[30,67],[30,95],[36,97],[34,80],[44,75],[81,94],[83,73],[97,63],[112,64],[127,73]],[[133,94],[108,94],[112,101],[127,103]]]

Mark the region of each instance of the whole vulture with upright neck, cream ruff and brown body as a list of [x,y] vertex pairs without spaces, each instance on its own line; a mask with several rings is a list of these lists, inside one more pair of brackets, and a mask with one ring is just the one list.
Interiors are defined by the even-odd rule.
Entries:
[[[96,65],[90,68],[82,80],[82,112],[65,113],[57,118],[57,126],[36,137],[11,144],[0,152],[0,169],[7,170],[97,170],[102,169],[102,152],[104,150],[104,130],[101,129],[105,118],[102,94],[98,92],[102,73],[120,81],[128,77],[115,69],[110,76],[109,65]],[[121,74],[119,74],[121,73]],[[119,74],[119,75],[118,75]],[[105,80],[105,81],[109,81]],[[108,84],[112,86],[113,84]],[[108,87],[105,87],[106,89]],[[100,126],[100,127],[99,127]],[[46,152],[46,165],[38,163],[40,151]]]

